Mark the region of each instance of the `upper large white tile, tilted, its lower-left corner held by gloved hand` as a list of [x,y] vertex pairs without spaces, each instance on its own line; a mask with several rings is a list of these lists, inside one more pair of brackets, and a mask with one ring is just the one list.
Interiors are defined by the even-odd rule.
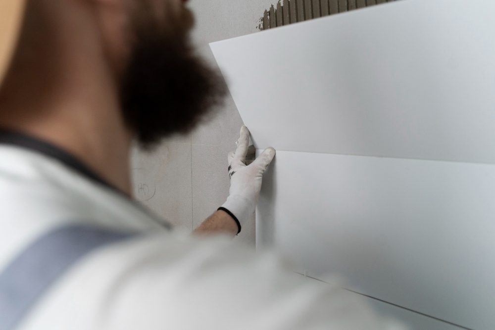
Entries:
[[487,12],[395,1],[210,47],[257,148],[495,163]]

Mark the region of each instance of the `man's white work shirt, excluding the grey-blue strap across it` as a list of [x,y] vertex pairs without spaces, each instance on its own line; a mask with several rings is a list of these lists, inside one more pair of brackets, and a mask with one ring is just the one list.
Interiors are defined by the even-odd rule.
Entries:
[[175,233],[70,155],[14,140],[0,141],[0,273],[60,226],[145,233],[85,255],[17,329],[400,328],[337,284],[303,281],[274,252]]

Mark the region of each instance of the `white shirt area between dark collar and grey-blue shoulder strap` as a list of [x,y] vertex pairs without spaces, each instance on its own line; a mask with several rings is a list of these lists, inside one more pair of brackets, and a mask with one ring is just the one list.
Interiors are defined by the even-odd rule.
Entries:
[[0,270],[37,237],[72,223],[117,230],[162,228],[131,199],[56,159],[0,146]]

